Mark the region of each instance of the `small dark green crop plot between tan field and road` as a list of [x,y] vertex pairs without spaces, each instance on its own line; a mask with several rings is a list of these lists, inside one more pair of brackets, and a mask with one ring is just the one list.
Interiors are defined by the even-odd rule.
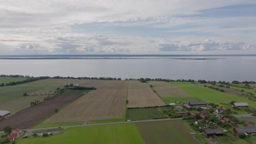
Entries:
[[131,121],[141,121],[146,119],[167,118],[167,116],[159,111],[158,107],[127,109],[126,119]]

